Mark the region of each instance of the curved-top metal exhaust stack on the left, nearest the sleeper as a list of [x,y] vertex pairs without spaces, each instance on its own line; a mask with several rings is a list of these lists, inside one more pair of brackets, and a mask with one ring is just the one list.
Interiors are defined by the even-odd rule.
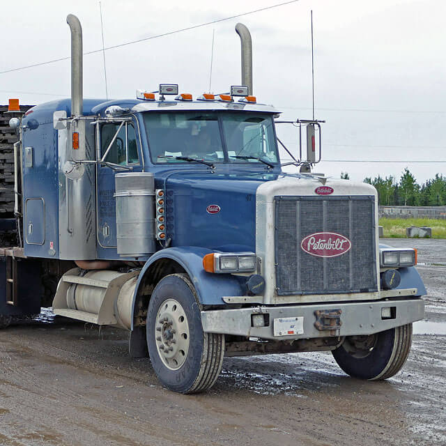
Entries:
[[67,23],[71,31],[71,116],[82,116],[82,26],[72,14],[67,15]]

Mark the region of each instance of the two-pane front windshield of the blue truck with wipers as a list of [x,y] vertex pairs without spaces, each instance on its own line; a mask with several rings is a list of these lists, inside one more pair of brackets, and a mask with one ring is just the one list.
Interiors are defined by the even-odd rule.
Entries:
[[270,115],[169,111],[148,112],[143,116],[155,163],[191,161],[178,157],[213,163],[277,162]]

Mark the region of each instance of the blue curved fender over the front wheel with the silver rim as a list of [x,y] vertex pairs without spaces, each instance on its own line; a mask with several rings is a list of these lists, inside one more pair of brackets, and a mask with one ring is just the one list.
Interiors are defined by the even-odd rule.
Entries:
[[153,254],[139,273],[137,286],[132,300],[132,330],[134,321],[134,306],[137,300],[139,286],[148,269],[160,259],[172,259],[182,266],[195,286],[199,302],[202,305],[226,305],[222,300],[225,295],[244,295],[245,277],[230,274],[213,274],[203,270],[203,256],[215,250],[195,246],[165,248]]

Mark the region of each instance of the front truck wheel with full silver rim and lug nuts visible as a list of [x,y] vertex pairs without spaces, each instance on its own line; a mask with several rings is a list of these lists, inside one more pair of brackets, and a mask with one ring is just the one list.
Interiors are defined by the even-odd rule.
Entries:
[[197,293],[185,274],[158,282],[148,304],[146,336],[153,370],[183,394],[210,389],[220,375],[224,334],[203,332]]

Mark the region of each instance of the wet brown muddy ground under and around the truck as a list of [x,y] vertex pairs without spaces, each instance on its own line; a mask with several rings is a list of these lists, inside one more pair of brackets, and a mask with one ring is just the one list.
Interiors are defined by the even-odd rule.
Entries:
[[[415,246],[446,263],[446,240]],[[0,445],[445,445],[446,286],[420,266],[426,320],[403,370],[384,382],[346,376],[330,353],[226,358],[207,394],[163,389],[127,334],[54,318],[0,332]]]

